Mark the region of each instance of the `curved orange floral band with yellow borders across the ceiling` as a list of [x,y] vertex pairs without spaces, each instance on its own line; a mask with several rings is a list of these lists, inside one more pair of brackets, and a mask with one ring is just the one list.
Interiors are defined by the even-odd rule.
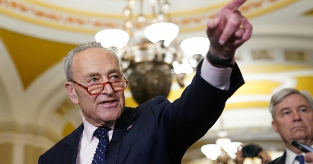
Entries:
[[[252,18],[296,1],[298,0],[247,0],[239,10],[248,18]],[[199,25],[202,29],[208,19],[218,11],[219,6],[221,5],[172,13],[172,22],[182,29],[181,32],[197,30]],[[0,0],[0,13],[46,27],[89,34],[106,28],[123,29],[124,24],[122,14],[120,16],[105,13],[101,15],[83,11],[80,13],[77,10],[71,12],[63,8],[50,8],[47,5],[22,0]],[[137,23],[134,27],[141,28],[145,25]]]

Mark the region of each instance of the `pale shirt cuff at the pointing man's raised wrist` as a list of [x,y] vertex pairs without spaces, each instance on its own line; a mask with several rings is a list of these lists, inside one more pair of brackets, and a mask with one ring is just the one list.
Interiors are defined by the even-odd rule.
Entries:
[[214,67],[208,62],[206,58],[204,58],[201,66],[200,76],[212,86],[222,90],[228,90],[230,86],[230,75],[232,70],[233,68]]

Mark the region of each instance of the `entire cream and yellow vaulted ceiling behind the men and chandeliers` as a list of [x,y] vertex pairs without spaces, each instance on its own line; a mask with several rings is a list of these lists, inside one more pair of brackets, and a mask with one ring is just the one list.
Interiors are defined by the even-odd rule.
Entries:
[[[208,18],[228,1],[190,2],[170,1],[179,42],[205,36]],[[42,135],[48,148],[81,123],[80,109],[63,86],[62,58],[75,45],[94,41],[100,29],[121,28],[125,5],[123,0],[0,0],[0,132]],[[240,8],[254,32],[236,55],[246,84],[223,113],[232,140],[279,142],[267,109],[271,95],[283,87],[313,94],[312,9],[312,0],[248,0]],[[174,81],[168,98],[173,101],[182,90]],[[127,89],[126,105],[136,106]],[[214,142],[218,128],[219,122],[184,161],[203,157],[199,146]]]

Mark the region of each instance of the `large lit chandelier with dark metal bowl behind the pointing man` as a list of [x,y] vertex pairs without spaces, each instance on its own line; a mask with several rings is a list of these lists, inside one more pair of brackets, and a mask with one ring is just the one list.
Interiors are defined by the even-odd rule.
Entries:
[[209,41],[202,37],[182,41],[180,49],[179,28],[171,23],[170,8],[168,0],[128,0],[124,28],[95,35],[97,42],[119,54],[121,71],[138,104],[158,95],[167,97],[173,78],[184,87],[183,78],[208,51]]

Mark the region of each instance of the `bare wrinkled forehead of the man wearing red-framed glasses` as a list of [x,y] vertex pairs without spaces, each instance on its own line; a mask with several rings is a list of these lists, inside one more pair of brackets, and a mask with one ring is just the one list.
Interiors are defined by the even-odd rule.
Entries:
[[120,70],[114,54],[103,48],[89,48],[75,54],[71,71],[74,78],[80,78],[90,72],[106,74],[112,69]]

